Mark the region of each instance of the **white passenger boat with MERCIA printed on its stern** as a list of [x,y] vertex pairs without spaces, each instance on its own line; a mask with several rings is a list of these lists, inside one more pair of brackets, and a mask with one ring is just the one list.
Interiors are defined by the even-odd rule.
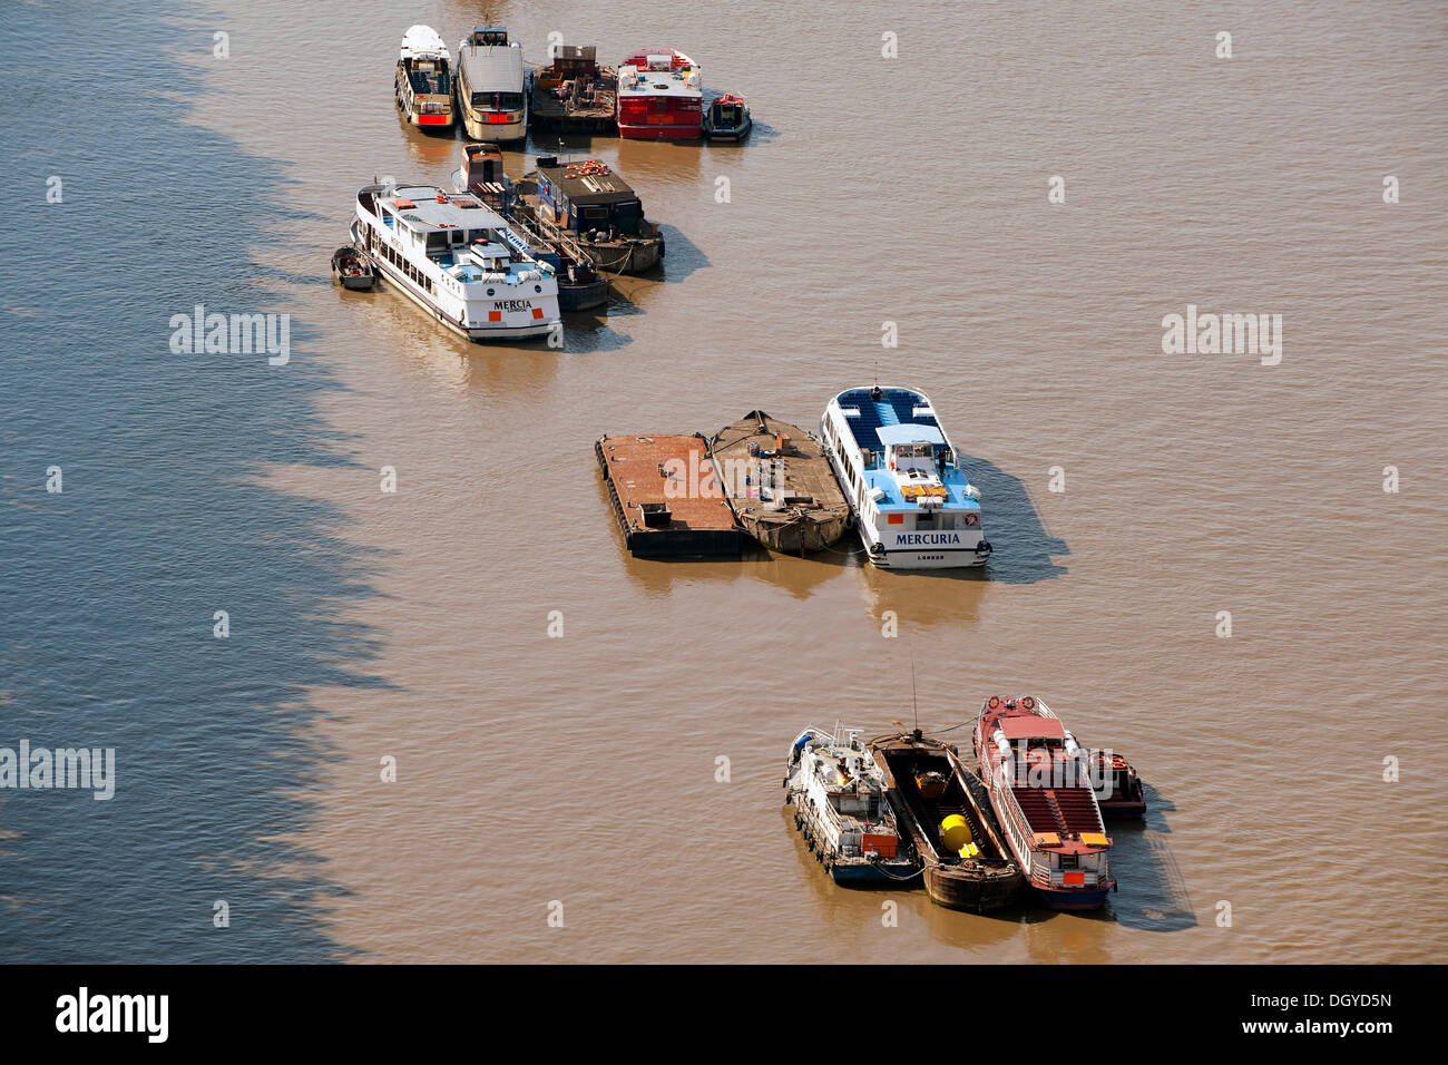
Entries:
[[352,235],[392,288],[471,341],[560,327],[553,268],[472,193],[366,185]]

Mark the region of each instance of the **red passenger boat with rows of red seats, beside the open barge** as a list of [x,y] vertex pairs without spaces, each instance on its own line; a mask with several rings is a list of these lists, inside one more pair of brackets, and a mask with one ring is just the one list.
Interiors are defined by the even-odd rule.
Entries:
[[1006,842],[1041,900],[1090,910],[1115,887],[1085,752],[1044,703],[990,696],[976,719],[976,759]]

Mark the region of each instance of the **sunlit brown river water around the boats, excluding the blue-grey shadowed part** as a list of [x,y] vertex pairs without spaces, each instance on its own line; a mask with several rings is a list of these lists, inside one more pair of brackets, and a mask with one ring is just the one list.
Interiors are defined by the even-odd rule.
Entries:
[[[297,283],[268,309],[343,385],[321,409],[350,465],[265,472],[340,507],[369,569],[333,620],[379,684],[308,694],[330,758],[294,840],[340,888],[319,914],[339,956],[1441,956],[1448,38],[1429,4],[1281,7],[197,9],[191,36],[232,54],[195,61],[191,120],[275,162],[298,217],[255,254]],[[743,146],[569,146],[640,191],[669,251],[563,351],[321,283],[359,185],[458,165],[392,104],[414,22],[450,46],[504,23],[530,62],[550,30],[610,64],[673,46],[752,106]],[[1163,354],[1187,304],[1280,314],[1280,364]],[[623,552],[601,433],[753,407],[812,427],[876,375],[972,456],[983,575]],[[1112,826],[1100,913],[953,913],[812,861],[780,807],[789,742],[911,720],[912,668],[927,729],[1030,691],[1137,765],[1151,811]]]

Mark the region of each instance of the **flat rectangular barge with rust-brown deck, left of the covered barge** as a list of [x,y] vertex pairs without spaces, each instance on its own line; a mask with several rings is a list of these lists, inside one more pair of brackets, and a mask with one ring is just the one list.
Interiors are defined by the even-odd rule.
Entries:
[[699,433],[599,436],[594,443],[624,545],[639,558],[743,554],[746,535]]

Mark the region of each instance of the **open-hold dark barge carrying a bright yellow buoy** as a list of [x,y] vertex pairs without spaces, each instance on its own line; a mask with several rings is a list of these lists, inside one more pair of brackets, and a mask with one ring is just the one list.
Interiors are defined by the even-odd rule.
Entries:
[[931,901],[985,913],[1009,906],[1021,869],[1001,842],[979,781],[956,749],[919,729],[870,740],[895,817],[919,855]]

